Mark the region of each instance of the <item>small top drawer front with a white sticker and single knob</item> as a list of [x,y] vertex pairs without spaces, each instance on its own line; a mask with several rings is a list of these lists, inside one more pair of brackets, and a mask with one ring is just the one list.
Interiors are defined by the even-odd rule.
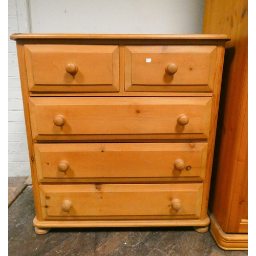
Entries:
[[216,46],[126,46],[125,91],[211,92]]

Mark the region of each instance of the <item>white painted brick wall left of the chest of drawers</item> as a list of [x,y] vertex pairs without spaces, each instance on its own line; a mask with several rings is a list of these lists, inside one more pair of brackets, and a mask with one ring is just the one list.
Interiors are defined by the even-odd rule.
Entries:
[[[26,0],[8,1],[8,176],[31,176],[22,92],[20,90],[16,43],[10,40],[13,33],[24,33],[19,25],[18,8]],[[21,8],[24,11],[26,8]],[[27,13],[21,13],[27,16]],[[23,31],[20,31],[23,30]]]

